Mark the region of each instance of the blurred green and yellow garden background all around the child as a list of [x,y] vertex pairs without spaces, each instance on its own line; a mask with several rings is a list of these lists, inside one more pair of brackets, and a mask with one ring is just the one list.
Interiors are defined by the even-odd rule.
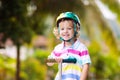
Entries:
[[53,80],[45,60],[60,41],[55,19],[72,11],[92,64],[88,80],[120,80],[120,0],[0,0],[0,80]]

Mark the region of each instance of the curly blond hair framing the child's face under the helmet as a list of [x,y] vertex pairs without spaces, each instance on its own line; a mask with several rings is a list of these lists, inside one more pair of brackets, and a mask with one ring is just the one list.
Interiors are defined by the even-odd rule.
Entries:
[[[72,20],[72,19],[66,19],[66,18],[63,18],[59,21],[60,22],[63,22],[63,21],[69,21],[69,20]],[[73,21],[73,20],[72,20]],[[73,21],[74,22],[74,21]],[[53,29],[53,33],[54,35],[56,36],[57,39],[60,39],[60,35],[59,35],[59,23],[57,23],[57,26]],[[75,23],[75,22],[74,22]],[[75,23],[76,24],[76,36],[75,38],[78,38],[80,36],[80,25],[78,23]],[[73,24],[74,25],[74,24]]]

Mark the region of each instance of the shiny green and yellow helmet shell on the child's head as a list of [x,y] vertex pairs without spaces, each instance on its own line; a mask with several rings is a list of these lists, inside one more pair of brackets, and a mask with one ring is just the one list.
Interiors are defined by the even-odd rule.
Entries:
[[58,25],[58,23],[60,22],[61,19],[72,19],[75,23],[78,23],[78,25],[80,26],[80,20],[78,18],[78,16],[72,12],[64,12],[64,13],[61,13],[57,19],[56,19],[56,23]]

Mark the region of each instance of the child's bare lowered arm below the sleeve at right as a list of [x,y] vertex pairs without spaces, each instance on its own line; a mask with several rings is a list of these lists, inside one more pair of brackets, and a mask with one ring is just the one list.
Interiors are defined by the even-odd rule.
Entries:
[[89,71],[89,64],[83,65],[80,80],[86,80],[87,79],[88,71]]

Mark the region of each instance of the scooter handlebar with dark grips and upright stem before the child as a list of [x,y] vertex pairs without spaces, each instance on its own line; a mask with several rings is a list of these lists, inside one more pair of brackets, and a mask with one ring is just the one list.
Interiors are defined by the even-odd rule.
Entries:
[[[56,60],[55,59],[47,59],[46,62],[49,62],[49,63],[55,63]],[[61,62],[60,62],[60,79],[58,80],[62,80],[62,63],[76,63],[77,60],[76,58],[68,58],[68,59],[63,59]]]

